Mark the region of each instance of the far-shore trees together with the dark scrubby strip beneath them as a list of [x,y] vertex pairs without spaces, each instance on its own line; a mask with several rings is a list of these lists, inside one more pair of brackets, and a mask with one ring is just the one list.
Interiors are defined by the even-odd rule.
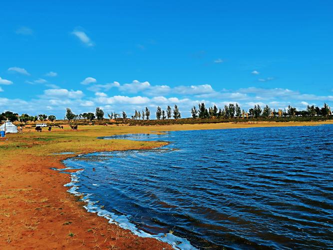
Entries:
[[[222,108],[216,105],[206,107],[205,103],[191,108],[192,117],[182,118],[177,105],[168,105],[165,110],[157,106],[155,119],[151,119],[151,110],[148,107],[142,110],[135,110],[128,115],[125,111],[104,113],[100,107],[96,107],[95,112],[84,112],[75,114],[70,108],[66,108],[63,119],[57,119],[53,114],[29,115],[23,113],[19,115],[12,111],[5,111],[0,114],[0,121],[10,120],[20,126],[37,122],[44,122],[47,125],[58,125],[64,122],[70,124],[120,124],[129,125],[168,125],[168,124],[194,124],[194,123],[220,123],[220,122],[257,122],[257,121],[318,121],[333,119],[331,107],[324,103],[320,106],[310,106],[305,110],[297,110],[293,106],[285,109],[272,109],[268,105],[261,107],[254,105],[249,110],[242,109],[238,103],[229,103]],[[105,117],[107,115],[107,118]]]

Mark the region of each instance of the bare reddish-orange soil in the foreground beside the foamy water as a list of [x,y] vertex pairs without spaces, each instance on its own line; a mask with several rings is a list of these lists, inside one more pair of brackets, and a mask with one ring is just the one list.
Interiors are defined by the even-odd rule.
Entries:
[[0,152],[0,249],[172,249],[87,212],[63,186],[69,175],[50,169],[68,155]]

